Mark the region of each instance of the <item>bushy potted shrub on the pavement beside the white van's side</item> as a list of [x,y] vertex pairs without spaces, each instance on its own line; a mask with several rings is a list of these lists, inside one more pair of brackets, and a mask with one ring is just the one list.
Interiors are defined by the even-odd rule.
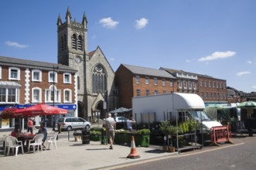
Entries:
[[[172,136],[179,131],[179,128],[177,128],[176,126],[173,126],[170,121],[161,121],[161,124],[159,125],[159,129],[165,135],[163,151],[166,151],[166,147],[167,147],[169,148],[169,151],[174,152],[175,148],[172,147]],[[169,140],[171,141],[170,144],[169,144]],[[167,141],[167,146],[166,146],[166,141]]]

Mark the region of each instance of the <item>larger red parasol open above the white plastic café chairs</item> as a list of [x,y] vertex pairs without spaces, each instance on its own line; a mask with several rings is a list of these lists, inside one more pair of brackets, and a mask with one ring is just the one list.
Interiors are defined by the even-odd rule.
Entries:
[[47,104],[36,104],[31,107],[13,111],[15,117],[48,116],[53,114],[67,114],[66,109],[49,106]]

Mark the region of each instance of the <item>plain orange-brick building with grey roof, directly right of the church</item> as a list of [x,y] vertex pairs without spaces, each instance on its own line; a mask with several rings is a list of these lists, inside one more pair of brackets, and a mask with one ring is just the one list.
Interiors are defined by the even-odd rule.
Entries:
[[165,70],[121,64],[115,72],[119,107],[131,108],[131,98],[176,92],[176,77]]

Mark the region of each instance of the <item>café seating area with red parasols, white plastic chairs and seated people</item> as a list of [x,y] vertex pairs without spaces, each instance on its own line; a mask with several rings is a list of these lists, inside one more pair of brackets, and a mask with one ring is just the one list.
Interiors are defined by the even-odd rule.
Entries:
[[[15,156],[17,156],[20,151],[22,151],[22,154],[30,153],[31,151],[36,153],[36,150],[39,152],[39,149],[41,151],[46,150],[47,146],[48,149],[56,149],[56,138],[58,133],[48,134],[46,128],[44,128],[43,122],[41,122],[39,131],[36,134],[32,131],[34,125],[32,123],[32,117],[56,114],[67,114],[67,110],[48,104],[35,104],[22,109],[6,107],[0,114],[0,117],[2,117],[2,119],[28,118],[28,131],[24,131],[24,124],[21,123],[24,120],[19,121],[20,123],[15,125],[15,129],[12,133],[7,134],[2,138],[0,137],[0,151],[2,151],[4,155],[7,153],[6,155],[8,156],[12,149],[12,153],[14,154],[15,151]],[[29,122],[31,122],[31,124],[29,124]],[[20,131],[21,129],[23,131]]]

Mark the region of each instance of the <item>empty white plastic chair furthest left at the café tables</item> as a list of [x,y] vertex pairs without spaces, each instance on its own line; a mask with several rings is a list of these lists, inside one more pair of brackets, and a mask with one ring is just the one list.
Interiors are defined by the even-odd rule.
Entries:
[[12,153],[14,153],[14,148],[16,149],[15,156],[18,154],[19,147],[22,148],[22,154],[24,154],[22,141],[18,141],[18,139],[13,136],[7,136],[5,138],[5,147],[8,150],[7,156],[9,155],[10,148],[12,148]]

